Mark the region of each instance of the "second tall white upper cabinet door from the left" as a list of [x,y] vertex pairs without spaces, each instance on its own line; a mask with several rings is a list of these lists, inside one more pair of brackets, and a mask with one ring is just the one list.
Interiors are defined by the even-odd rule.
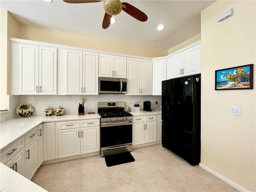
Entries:
[[39,47],[39,94],[57,95],[57,49]]

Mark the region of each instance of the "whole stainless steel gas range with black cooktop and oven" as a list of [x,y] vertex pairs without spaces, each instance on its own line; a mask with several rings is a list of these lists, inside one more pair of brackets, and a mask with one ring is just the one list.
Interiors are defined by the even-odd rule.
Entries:
[[132,151],[132,114],[124,102],[98,102],[100,156]]

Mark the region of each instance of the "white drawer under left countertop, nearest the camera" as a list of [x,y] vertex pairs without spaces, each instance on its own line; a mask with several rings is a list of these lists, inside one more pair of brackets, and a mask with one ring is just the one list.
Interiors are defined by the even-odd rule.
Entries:
[[24,137],[22,137],[15,143],[10,144],[10,146],[5,148],[4,150],[1,150],[1,162],[3,164],[6,164],[11,158],[13,158],[18,152],[20,152],[20,150],[22,150],[24,146]]

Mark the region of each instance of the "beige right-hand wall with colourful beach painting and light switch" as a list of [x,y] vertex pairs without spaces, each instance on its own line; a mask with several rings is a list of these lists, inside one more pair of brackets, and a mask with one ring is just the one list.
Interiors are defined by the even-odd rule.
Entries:
[[[217,16],[233,8],[222,22]],[[256,1],[218,0],[201,12],[201,163],[256,191]],[[214,90],[215,70],[254,64],[254,89]],[[242,116],[230,115],[242,107]]]

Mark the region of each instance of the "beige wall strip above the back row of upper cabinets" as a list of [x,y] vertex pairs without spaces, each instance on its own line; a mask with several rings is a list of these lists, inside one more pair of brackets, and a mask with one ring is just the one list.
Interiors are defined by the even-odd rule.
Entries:
[[47,28],[20,25],[20,38],[39,42],[47,42],[80,48],[126,53],[146,57],[159,57],[167,55],[166,49],[139,46],[125,42],[68,33]]

